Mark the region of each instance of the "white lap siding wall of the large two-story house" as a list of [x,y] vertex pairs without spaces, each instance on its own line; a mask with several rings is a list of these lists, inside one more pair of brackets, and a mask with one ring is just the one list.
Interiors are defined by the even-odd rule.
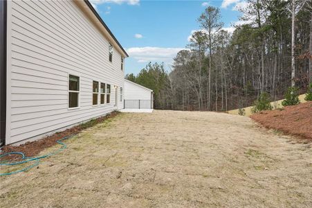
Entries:
[[[115,109],[124,85],[121,55],[73,1],[8,1],[6,144]],[[80,76],[80,108],[68,110],[68,74]],[[111,104],[92,105],[93,80],[111,85]],[[118,108],[122,101],[118,98]]]

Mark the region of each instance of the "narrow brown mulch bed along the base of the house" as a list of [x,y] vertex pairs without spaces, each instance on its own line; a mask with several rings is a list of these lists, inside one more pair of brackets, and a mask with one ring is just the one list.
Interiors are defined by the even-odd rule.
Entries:
[[[114,111],[114,112],[111,112],[110,114],[107,114],[106,116],[93,119],[86,123],[82,123],[81,125],[77,125],[73,128],[68,128],[67,130],[64,130],[62,132],[57,132],[54,135],[48,136],[44,139],[40,139],[37,141],[29,141],[25,144],[21,144],[20,146],[12,146],[12,145],[3,146],[2,154],[10,153],[10,152],[21,152],[21,153],[24,153],[26,157],[33,157],[35,155],[38,155],[45,148],[48,148],[57,144],[56,143],[57,140],[62,139],[63,137],[70,136],[70,135],[76,135],[82,130],[89,128],[93,125],[96,125],[98,123],[101,123],[104,120],[111,119],[117,116],[118,114],[119,112]],[[0,159],[1,160],[17,160],[17,159],[20,159],[20,156],[10,155],[10,156],[1,157]]]

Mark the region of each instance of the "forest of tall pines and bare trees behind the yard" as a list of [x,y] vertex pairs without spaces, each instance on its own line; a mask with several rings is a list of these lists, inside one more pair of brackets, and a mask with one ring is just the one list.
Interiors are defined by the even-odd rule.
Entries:
[[223,30],[219,8],[197,19],[201,30],[179,51],[171,71],[151,63],[126,78],[154,90],[154,107],[226,111],[271,101],[288,87],[306,92],[312,83],[311,1],[248,0],[233,33]]

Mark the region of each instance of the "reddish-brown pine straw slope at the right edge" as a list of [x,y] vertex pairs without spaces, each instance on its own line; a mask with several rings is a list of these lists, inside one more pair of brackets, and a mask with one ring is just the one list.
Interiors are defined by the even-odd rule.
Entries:
[[266,110],[250,117],[266,128],[312,140],[312,101],[282,110]]

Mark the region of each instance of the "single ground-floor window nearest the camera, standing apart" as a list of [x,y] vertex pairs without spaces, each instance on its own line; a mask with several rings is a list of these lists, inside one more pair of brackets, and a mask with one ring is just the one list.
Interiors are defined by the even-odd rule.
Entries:
[[68,107],[79,107],[79,77],[71,74],[68,80]]

